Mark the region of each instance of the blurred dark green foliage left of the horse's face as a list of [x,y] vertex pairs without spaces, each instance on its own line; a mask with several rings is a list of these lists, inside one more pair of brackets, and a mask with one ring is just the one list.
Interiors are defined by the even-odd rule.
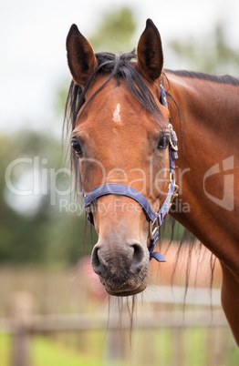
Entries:
[[[71,201],[68,195],[66,197],[58,195],[56,204],[51,204],[54,201],[51,196],[55,194],[57,171],[59,172],[56,177],[58,191],[64,192],[69,185],[69,179],[66,179],[66,175],[58,170],[61,166],[60,142],[47,135],[22,130],[18,131],[17,137],[0,137],[0,146],[2,172],[5,172],[9,164],[17,158],[29,158],[32,161],[32,163],[21,163],[19,160],[19,164],[11,169],[11,186],[19,191],[18,194],[11,191],[11,187],[5,187],[4,174],[0,178],[0,262],[31,262],[48,265],[76,262],[83,253],[82,232],[85,227],[85,215],[79,216],[76,222],[74,215],[69,212]],[[39,158],[36,160],[38,161],[36,166],[34,166],[34,158]],[[45,164],[43,165],[42,162]],[[21,171],[22,174],[19,177],[18,173]],[[33,187],[34,174],[39,178],[39,192],[35,187],[36,192],[30,197],[21,195],[20,190],[24,194],[26,189]],[[41,186],[43,174],[47,175],[44,194]],[[19,181],[21,181],[20,185]],[[21,198],[20,201],[19,198]],[[60,199],[68,202],[61,212]],[[27,203],[29,201],[30,205]],[[88,233],[86,253],[90,249],[91,239]]]

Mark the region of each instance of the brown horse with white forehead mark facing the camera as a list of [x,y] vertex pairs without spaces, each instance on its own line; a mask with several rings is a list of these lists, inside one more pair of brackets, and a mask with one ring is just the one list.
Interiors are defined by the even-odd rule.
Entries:
[[[147,202],[158,218],[168,200],[164,218],[174,198],[171,216],[221,262],[223,310],[239,344],[239,80],[163,70],[161,36],[151,20],[137,56],[94,54],[77,25],[67,51],[73,81],[66,110],[78,187],[85,198],[109,187],[86,204],[99,234],[93,269],[111,295],[144,290],[155,224]],[[169,118],[179,137],[179,196],[174,185],[170,199],[176,143]]]

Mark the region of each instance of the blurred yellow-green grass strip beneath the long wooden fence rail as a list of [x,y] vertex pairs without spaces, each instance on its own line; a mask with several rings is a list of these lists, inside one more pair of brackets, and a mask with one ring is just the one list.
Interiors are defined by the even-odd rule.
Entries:
[[[103,331],[35,336],[31,346],[32,366],[159,366],[159,360],[161,366],[239,365],[239,350],[229,329],[138,330],[133,334],[131,347],[128,336],[125,333],[124,343],[128,347],[122,352],[124,360],[108,362],[109,343]],[[1,334],[1,366],[10,366],[10,351],[10,336]],[[111,350],[111,357],[114,356]],[[177,363],[178,360],[182,362]]]

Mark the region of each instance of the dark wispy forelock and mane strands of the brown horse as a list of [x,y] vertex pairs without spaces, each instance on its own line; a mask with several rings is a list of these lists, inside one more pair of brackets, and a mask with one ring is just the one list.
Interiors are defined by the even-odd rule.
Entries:
[[[93,74],[89,77],[88,82],[84,88],[78,86],[71,81],[68,90],[68,98],[65,108],[65,116],[64,116],[64,125],[63,125],[63,132],[66,130],[67,135],[73,131],[76,127],[77,117],[80,116],[81,113],[88,107],[91,100],[109,83],[109,80],[113,77],[116,78],[117,82],[120,85],[120,79],[124,78],[126,80],[127,86],[130,90],[130,93],[133,97],[135,97],[141,104],[142,107],[145,107],[149,110],[151,115],[154,117],[155,121],[161,125],[162,121],[162,114],[160,108],[157,106],[157,103],[154,97],[151,94],[150,89],[144,83],[140,73],[137,71],[136,63],[131,62],[131,60],[136,59],[135,50],[130,53],[123,53],[121,55],[114,55],[112,53],[98,53],[96,54],[96,58],[98,61],[98,67],[95,69]],[[166,70],[165,70],[166,71]],[[168,71],[168,70],[167,70]],[[169,72],[169,71],[168,71]],[[96,76],[99,74],[109,75],[105,83],[99,87],[99,89],[89,98],[88,102],[86,103],[85,95],[90,87],[91,82],[94,80]],[[191,77],[195,77],[190,74]],[[167,76],[163,74],[165,81],[168,82]],[[185,76],[185,75],[184,75]],[[177,106],[176,101],[171,97],[169,93],[167,93],[167,97],[171,98],[171,102],[175,105],[178,110],[179,120],[181,123],[181,116],[180,116],[180,108]],[[81,110],[81,111],[80,111]],[[80,113],[80,114],[79,114]],[[75,172],[75,186],[76,186],[76,194],[78,195],[81,193],[81,185],[80,185],[80,172],[79,172],[79,164],[78,158],[76,154],[71,151],[70,152],[70,166],[71,169]],[[161,237],[163,237],[164,229],[167,225],[171,227],[171,239],[169,242],[169,247],[174,237],[174,229],[175,229],[175,220],[170,217],[170,219],[166,219],[166,224],[163,225],[161,228]],[[160,240],[161,241],[161,240]],[[187,263],[187,270],[186,270],[186,283],[185,283],[185,296],[188,288],[189,283],[189,274],[190,274],[190,266],[191,266],[191,256],[192,256],[192,249],[195,244],[195,238],[192,234],[185,229],[180,241],[180,245],[178,247],[176,265],[180,256],[180,252],[182,249],[183,244],[186,242],[188,244],[189,256],[188,256],[188,263]],[[200,244],[200,248],[201,248]],[[174,271],[176,269],[176,265]],[[212,269],[212,277],[211,277],[211,288],[213,284],[213,269],[214,269],[214,260],[212,257],[211,260],[211,269]]]

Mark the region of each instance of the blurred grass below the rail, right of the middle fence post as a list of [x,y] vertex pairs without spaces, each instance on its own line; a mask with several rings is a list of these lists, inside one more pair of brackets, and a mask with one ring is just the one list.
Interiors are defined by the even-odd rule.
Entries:
[[135,353],[133,366],[239,365],[239,350],[229,328],[139,331],[132,351]]

